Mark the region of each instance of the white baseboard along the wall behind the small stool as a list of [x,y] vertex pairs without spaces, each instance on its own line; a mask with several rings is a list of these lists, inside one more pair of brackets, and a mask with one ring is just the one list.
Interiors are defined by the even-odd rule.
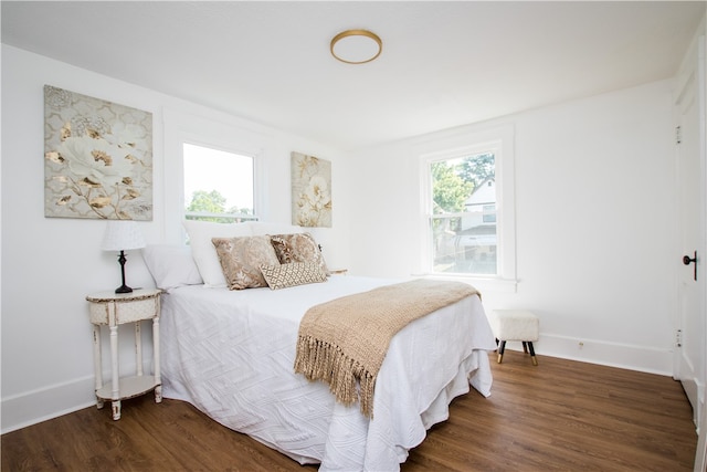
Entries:
[[[532,343],[532,346],[540,363],[541,356],[546,355],[650,374],[673,375],[672,349],[580,339],[548,333],[540,333],[538,342]],[[519,342],[508,342],[506,348],[523,350]]]

